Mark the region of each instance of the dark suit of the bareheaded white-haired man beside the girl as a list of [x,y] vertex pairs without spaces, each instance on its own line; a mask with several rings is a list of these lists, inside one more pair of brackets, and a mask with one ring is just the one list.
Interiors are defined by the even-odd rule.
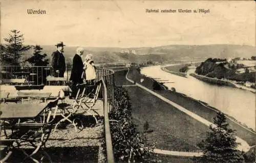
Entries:
[[82,59],[79,55],[76,54],[73,58],[73,66],[72,66],[72,71],[71,71],[69,80],[72,80],[74,83],[81,84],[83,82],[81,77],[82,72],[83,72]]

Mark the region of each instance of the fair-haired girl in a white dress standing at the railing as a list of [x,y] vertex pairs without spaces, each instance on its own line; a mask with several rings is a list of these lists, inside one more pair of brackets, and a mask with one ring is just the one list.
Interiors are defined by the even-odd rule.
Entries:
[[86,83],[88,85],[94,85],[95,78],[96,78],[96,67],[94,65],[92,54],[88,54],[86,56],[86,61],[83,62],[83,69],[84,69],[84,78],[86,79]]

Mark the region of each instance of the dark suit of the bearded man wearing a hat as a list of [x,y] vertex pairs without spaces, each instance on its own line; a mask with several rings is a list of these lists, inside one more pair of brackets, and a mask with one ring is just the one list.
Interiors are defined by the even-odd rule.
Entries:
[[[52,67],[53,67],[53,76],[55,77],[64,77],[64,72],[66,70],[65,57],[58,50],[52,53]],[[56,71],[59,70],[59,75]]]

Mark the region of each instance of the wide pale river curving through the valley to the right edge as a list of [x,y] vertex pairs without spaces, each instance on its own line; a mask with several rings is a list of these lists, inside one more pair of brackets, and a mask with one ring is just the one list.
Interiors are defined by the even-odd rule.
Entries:
[[[195,69],[190,69],[188,74],[194,73],[194,71]],[[149,77],[159,78],[157,80],[172,82],[164,85],[168,89],[174,87],[177,92],[204,101],[255,130],[254,93],[238,88],[210,85],[190,75],[185,78],[170,74],[161,70],[160,66],[144,67],[141,69],[141,73]]]

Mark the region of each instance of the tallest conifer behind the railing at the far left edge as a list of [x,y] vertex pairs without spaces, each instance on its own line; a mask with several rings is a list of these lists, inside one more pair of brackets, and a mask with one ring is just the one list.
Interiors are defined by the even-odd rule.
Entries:
[[23,34],[19,33],[20,31],[11,30],[9,38],[4,38],[7,44],[3,46],[3,60],[12,65],[19,65],[19,58],[30,49],[29,45],[23,45],[24,37]]

